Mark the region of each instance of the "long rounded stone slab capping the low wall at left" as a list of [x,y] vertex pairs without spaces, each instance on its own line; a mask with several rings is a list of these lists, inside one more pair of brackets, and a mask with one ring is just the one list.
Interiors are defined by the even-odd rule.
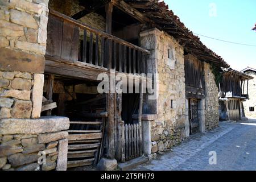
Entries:
[[68,129],[69,119],[66,117],[42,117],[39,119],[2,119],[0,121],[0,134],[2,135],[43,134]]

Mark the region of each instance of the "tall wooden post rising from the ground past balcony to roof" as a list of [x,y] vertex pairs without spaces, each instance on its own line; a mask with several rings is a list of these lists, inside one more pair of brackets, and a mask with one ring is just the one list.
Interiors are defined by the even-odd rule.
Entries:
[[[106,5],[106,33],[112,34],[112,11],[113,11],[113,5],[112,3],[108,3]],[[112,68],[112,44],[110,40],[106,41],[106,63],[108,65],[108,69],[110,72],[110,69]],[[110,80],[109,78],[109,93],[107,96],[107,110],[108,110],[108,152],[107,152],[107,158],[109,159],[115,159],[115,132],[117,131],[115,126],[115,119],[114,119],[114,94],[111,93],[110,88]]]

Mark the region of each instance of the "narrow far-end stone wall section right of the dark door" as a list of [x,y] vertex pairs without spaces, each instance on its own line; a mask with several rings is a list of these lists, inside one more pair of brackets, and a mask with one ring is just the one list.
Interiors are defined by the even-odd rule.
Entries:
[[205,129],[212,130],[218,127],[218,88],[210,69],[210,64],[204,64],[205,79]]

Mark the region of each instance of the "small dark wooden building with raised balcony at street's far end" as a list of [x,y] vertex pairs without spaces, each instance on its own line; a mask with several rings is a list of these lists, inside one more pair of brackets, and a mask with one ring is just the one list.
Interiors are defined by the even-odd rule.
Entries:
[[247,85],[253,77],[232,68],[221,72],[219,113],[222,121],[247,120],[243,103],[250,98]]

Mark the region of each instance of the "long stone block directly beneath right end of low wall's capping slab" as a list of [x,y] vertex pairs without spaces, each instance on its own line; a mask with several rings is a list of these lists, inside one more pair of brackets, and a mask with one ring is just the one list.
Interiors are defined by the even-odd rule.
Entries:
[[59,139],[68,138],[68,131],[61,131],[59,133],[42,134],[38,136],[38,143],[49,143]]

